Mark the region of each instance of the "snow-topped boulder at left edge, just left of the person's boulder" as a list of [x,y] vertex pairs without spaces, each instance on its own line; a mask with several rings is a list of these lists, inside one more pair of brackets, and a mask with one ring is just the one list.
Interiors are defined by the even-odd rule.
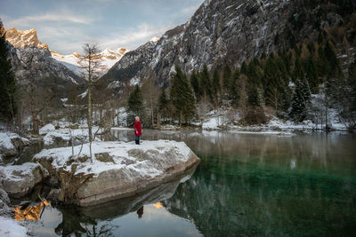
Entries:
[[48,177],[48,172],[38,163],[23,163],[0,167],[0,179],[4,191],[13,197],[29,194],[32,189]]

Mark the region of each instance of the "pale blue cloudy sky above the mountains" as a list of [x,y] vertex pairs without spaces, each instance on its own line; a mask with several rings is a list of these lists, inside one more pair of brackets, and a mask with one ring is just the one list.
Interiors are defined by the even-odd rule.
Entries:
[[134,50],[153,36],[181,25],[204,0],[0,0],[5,29],[35,28],[50,50],[80,52],[84,43],[101,50]]

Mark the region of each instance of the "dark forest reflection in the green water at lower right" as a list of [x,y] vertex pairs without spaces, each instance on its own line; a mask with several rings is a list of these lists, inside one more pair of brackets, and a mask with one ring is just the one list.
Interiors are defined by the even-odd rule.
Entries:
[[355,180],[235,169],[233,175],[202,164],[164,201],[166,209],[192,220],[206,236],[355,233]]

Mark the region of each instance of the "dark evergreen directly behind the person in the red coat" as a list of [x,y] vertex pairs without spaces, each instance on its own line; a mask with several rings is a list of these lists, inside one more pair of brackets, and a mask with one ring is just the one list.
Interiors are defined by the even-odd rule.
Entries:
[[134,124],[134,117],[139,116],[144,118],[145,110],[143,106],[142,93],[139,85],[137,84],[128,97],[127,101],[127,125],[132,126]]

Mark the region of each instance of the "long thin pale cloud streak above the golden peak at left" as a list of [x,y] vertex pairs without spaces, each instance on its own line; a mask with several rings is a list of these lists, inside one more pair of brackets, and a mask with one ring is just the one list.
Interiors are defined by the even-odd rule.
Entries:
[[78,24],[89,24],[93,21],[93,18],[88,18],[84,16],[77,16],[71,13],[45,13],[42,15],[25,16],[18,19],[7,20],[6,25],[13,28],[23,28],[33,25],[36,22],[48,22],[48,21],[59,21],[59,22],[70,22]]

